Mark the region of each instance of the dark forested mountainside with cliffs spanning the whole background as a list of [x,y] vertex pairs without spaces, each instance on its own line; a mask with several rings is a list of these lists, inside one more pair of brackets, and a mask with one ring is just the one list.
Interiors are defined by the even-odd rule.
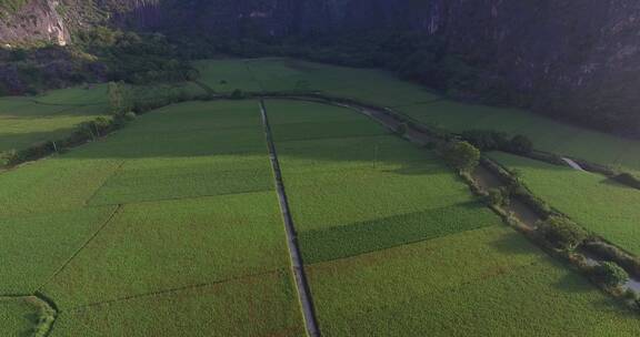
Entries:
[[383,67],[458,99],[640,135],[640,6],[631,0],[6,0],[2,7],[4,43],[66,44],[97,25],[162,32],[192,58],[231,52]]

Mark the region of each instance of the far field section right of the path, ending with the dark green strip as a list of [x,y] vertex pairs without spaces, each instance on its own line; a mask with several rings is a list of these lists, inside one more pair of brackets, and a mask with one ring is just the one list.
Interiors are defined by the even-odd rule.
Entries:
[[[300,211],[293,217],[306,262],[357,255],[493,223],[493,216],[470,198],[467,187],[432,153],[394,136],[349,137],[348,129],[327,125],[310,134],[311,140],[281,140],[282,130],[287,134],[296,124],[284,123],[280,111],[284,115],[291,111],[307,114],[299,103],[289,104],[267,105],[290,205]],[[307,116],[309,124],[316,116],[326,126],[326,116],[332,111],[353,119],[353,112],[343,109],[313,109]],[[352,123],[376,125],[363,116]]]

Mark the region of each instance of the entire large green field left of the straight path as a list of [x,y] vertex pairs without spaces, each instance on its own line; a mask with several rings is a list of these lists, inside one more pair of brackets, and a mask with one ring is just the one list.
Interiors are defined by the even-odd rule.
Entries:
[[169,106],[0,185],[2,293],[54,298],[51,336],[302,331],[257,102]]

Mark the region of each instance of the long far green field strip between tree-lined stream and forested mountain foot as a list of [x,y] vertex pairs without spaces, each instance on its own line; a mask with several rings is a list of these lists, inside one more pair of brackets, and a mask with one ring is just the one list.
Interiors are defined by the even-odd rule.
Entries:
[[228,89],[322,92],[356,99],[393,108],[413,120],[453,132],[483,129],[524,134],[538,150],[640,172],[639,141],[567,125],[519,109],[453,102],[384,71],[276,58],[200,61],[197,67],[209,85],[228,78],[233,79]]

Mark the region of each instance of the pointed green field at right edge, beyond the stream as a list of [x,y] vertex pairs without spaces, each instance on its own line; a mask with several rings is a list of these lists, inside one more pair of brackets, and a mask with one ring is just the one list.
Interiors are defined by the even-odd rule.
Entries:
[[579,172],[503,153],[491,154],[509,170],[518,171],[524,184],[551,206],[569,215],[586,229],[620,247],[640,254],[640,203],[638,190],[599,174]]

